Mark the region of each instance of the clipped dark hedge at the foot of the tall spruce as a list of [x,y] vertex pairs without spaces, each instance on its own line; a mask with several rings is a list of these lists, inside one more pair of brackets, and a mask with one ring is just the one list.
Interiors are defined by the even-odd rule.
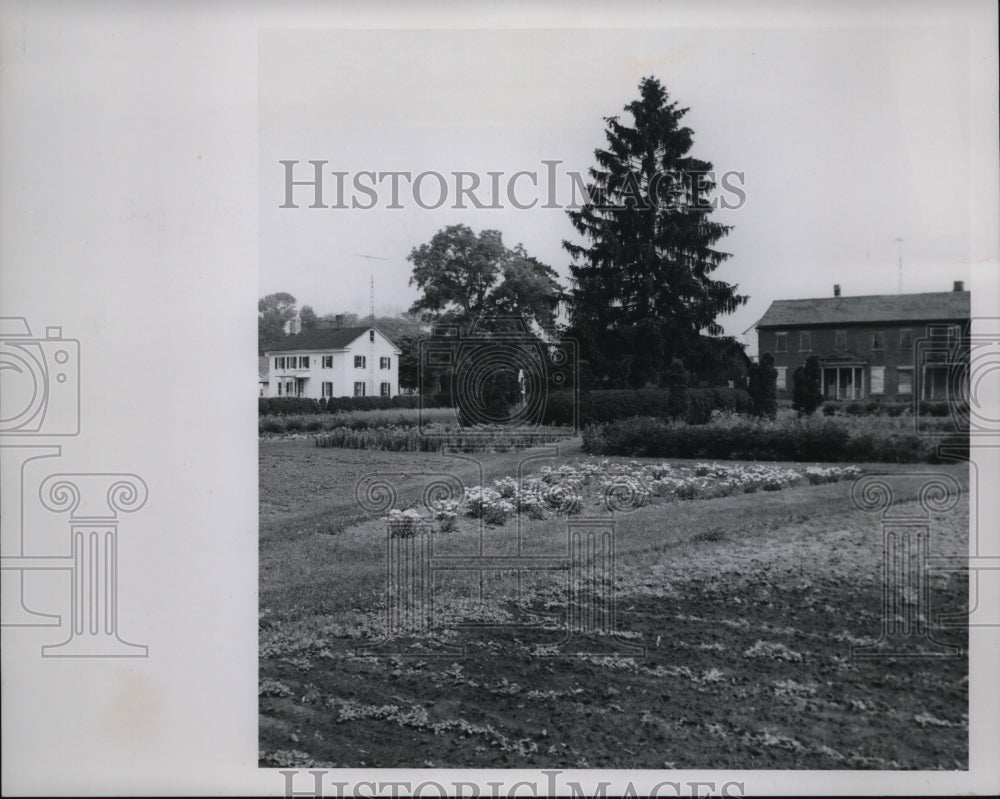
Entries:
[[[713,410],[749,413],[750,395],[735,388],[689,388],[685,421],[705,424]],[[574,414],[574,405],[576,414]],[[544,424],[572,424],[574,416],[581,426],[613,422],[632,416],[672,415],[670,392],[661,388],[589,391],[579,398],[572,392],[550,394],[545,403]]]

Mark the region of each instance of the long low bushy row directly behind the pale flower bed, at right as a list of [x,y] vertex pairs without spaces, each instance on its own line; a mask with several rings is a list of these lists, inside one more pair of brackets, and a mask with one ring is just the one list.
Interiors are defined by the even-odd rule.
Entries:
[[719,460],[936,463],[938,444],[968,457],[967,435],[853,434],[834,422],[687,426],[636,418],[593,425],[583,434],[583,450],[592,455]]

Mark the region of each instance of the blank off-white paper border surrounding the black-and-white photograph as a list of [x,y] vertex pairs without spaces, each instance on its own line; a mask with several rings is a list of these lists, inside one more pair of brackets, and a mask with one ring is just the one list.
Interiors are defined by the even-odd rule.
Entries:
[[[15,643],[5,630],[4,794],[282,790],[277,773],[256,768],[247,309],[257,296],[259,29],[964,26],[977,99],[970,251],[993,253],[972,267],[974,311],[995,314],[985,298],[1000,294],[996,22],[988,2],[0,2],[0,310],[82,342],[86,443],[67,444],[67,466],[134,470],[150,489],[121,544],[132,563],[127,573],[123,565],[130,608],[121,625],[149,643],[150,658],[45,661],[37,652],[47,640]],[[984,521],[993,521],[996,499],[987,499]],[[714,778],[742,780],[752,793],[994,792],[996,633],[975,635],[967,774],[646,772],[636,785]],[[501,776],[538,773],[492,778]]]

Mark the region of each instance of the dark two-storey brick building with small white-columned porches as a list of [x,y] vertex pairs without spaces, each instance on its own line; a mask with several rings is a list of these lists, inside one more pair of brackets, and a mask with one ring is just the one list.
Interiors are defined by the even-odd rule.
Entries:
[[792,375],[819,357],[831,400],[958,399],[967,394],[969,292],[952,291],[775,300],[757,322],[758,352],[774,355],[778,399],[791,399]]

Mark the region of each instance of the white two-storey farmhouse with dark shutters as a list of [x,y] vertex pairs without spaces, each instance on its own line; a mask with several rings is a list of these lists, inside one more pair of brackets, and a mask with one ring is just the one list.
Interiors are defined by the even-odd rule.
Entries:
[[269,397],[395,397],[399,348],[375,327],[317,327],[268,350]]

